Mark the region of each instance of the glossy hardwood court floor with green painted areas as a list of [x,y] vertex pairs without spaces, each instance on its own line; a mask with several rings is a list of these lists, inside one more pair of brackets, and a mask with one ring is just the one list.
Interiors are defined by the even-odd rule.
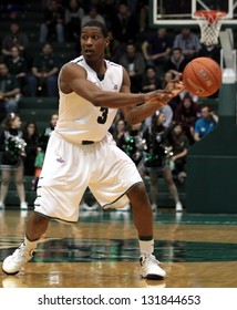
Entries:
[[[21,241],[29,214],[0,211],[0,261]],[[0,271],[0,287],[237,288],[237,215],[154,213],[155,252],[164,281],[138,276],[131,211],[81,211],[74,225],[51,221],[37,255],[18,276]]]

